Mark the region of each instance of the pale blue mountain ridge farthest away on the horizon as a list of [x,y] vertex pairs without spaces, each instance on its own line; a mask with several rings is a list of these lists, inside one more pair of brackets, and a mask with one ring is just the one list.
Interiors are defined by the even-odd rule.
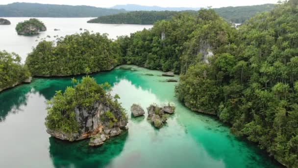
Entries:
[[124,4],[124,5],[115,5],[111,7],[112,9],[125,9],[127,11],[183,11],[183,10],[199,10],[199,7],[160,7],[160,6],[144,6],[138,4]]

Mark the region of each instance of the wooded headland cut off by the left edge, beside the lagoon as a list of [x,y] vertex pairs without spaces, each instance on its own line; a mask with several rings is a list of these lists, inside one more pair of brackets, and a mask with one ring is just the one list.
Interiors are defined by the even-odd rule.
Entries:
[[0,51],[0,91],[22,84],[30,75],[27,68],[21,64],[20,56]]

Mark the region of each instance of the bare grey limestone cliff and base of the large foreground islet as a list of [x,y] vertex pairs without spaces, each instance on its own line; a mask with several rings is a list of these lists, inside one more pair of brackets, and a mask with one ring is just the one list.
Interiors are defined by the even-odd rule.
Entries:
[[115,117],[118,121],[113,123],[113,125],[111,125],[108,120],[102,120],[102,118],[105,117],[105,112],[111,110],[112,109],[110,109],[110,107],[100,102],[96,102],[92,110],[76,107],[75,119],[79,124],[79,130],[77,133],[65,134],[50,129],[48,129],[47,132],[55,138],[69,141],[83,140],[97,134],[104,134],[108,137],[119,135],[122,132],[121,129],[125,129],[127,120],[122,119],[121,112],[119,112],[118,116],[116,115],[117,112],[114,112],[114,114],[116,113]]

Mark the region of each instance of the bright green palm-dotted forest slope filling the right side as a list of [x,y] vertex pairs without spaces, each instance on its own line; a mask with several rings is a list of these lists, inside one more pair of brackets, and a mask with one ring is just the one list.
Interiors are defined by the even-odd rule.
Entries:
[[251,18],[208,62],[186,59],[195,65],[176,86],[186,106],[214,112],[289,168],[298,167],[297,20],[298,0]]

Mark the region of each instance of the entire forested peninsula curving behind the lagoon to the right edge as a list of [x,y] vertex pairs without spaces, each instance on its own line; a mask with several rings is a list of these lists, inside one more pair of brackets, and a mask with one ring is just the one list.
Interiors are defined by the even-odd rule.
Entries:
[[42,41],[25,65],[34,76],[110,70],[118,64],[181,74],[176,96],[215,115],[288,168],[298,167],[298,0],[236,29],[212,9],[178,13],[112,41],[88,31]]

